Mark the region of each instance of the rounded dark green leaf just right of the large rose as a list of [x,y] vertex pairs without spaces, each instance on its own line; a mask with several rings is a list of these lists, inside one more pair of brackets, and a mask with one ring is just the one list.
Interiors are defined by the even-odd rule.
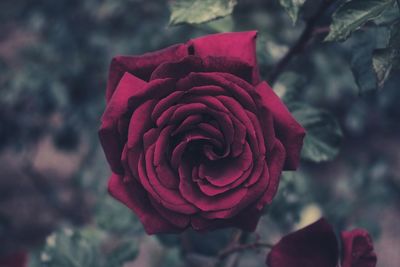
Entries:
[[293,116],[306,129],[301,157],[308,161],[332,160],[339,153],[342,131],[332,114],[304,103],[289,105]]

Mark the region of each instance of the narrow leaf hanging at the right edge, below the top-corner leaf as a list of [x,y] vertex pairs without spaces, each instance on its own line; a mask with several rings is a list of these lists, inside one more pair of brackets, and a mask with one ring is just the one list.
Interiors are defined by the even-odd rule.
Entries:
[[400,68],[400,22],[392,26],[387,48],[376,49],[372,57],[378,87],[383,88],[392,69]]

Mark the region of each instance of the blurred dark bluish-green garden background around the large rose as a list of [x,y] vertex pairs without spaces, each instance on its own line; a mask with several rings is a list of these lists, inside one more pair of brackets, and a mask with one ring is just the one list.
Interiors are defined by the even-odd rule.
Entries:
[[[296,25],[278,1],[242,0],[223,19],[168,26],[162,0],[0,1],[0,259],[22,251],[31,267],[212,266],[234,230],[149,237],[107,194],[110,171],[97,129],[111,58],[256,29],[268,78],[319,2],[307,1]],[[343,43],[323,42],[333,9],[321,15],[310,42],[273,86],[287,101],[324,109],[327,118],[317,124],[336,127],[337,121],[343,138],[336,140],[335,128],[334,142],[317,140],[317,151],[304,152],[311,156],[299,172],[283,175],[256,233],[274,243],[325,216],[337,231],[368,229],[378,266],[396,267],[400,75],[381,89],[360,80],[367,75],[356,65],[360,53],[379,45],[381,28],[371,25]],[[244,252],[232,266],[264,266],[266,252]]]

